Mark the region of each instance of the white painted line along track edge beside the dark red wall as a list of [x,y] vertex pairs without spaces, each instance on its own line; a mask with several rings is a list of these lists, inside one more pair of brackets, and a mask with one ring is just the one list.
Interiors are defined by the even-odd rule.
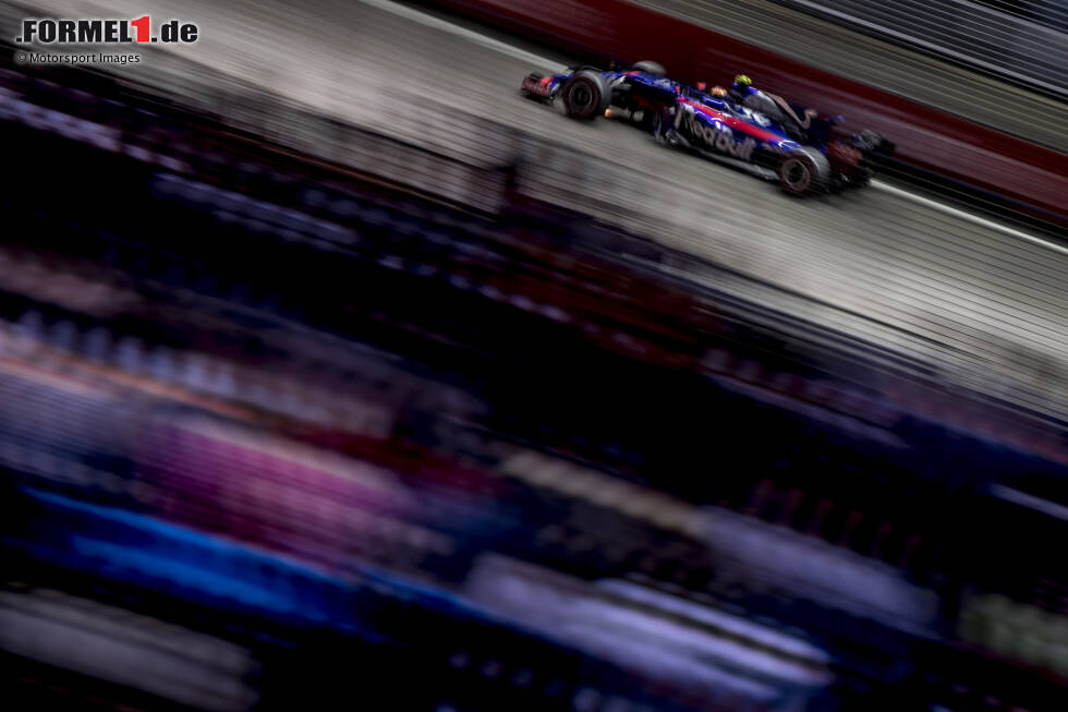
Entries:
[[[553,72],[560,73],[566,71],[567,69],[565,67],[561,67],[558,62],[548,59],[547,57],[542,57],[541,55],[529,52],[525,49],[520,49],[519,47],[512,47],[507,43],[500,41],[499,39],[487,37],[486,35],[477,33],[473,29],[461,27],[456,23],[451,23],[446,20],[441,20],[440,17],[435,17],[433,15],[428,15],[425,12],[421,12],[418,10],[409,8],[406,5],[392,2],[391,0],[360,0],[360,2],[363,2],[364,4],[371,5],[373,8],[377,8],[385,12],[392,13],[399,17],[404,17],[405,20],[416,22],[421,25],[425,25],[427,27],[434,27],[435,29],[440,29],[451,35],[456,35],[457,37],[462,37],[477,45],[482,45],[483,47],[487,47],[489,49],[501,52],[503,55],[508,55],[509,57],[514,57],[515,59],[530,62],[531,64],[534,64],[535,67],[545,70],[550,70]],[[1039,246],[1045,248],[1047,250],[1052,250],[1063,255],[1068,255],[1068,246],[1060,245],[1055,242],[1051,242],[1049,240],[1043,240],[1042,238],[1036,238],[1033,234],[1029,234],[1027,232],[1023,232],[1022,230],[1017,230],[1016,228],[1011,228],[1007,225],[995,222],[994,220],[988,220],[984,217],[980,217],[979,215],[973,215],[966,210],[961,210],[950,205],[946,205],[945,203],[939,203],[938,201],[933,201],[929,197],[917,195],[915,193],[910,193],[909,191],[902,190],[895,185],[890,185],[888,183],[884,183],[883,181],[877,181],[877,180],[872,181],[871,185],[872,188],[875,188],[877,190],[887,193],[891,193],[894,195],[897,195],[898,197],[903,197],[908,201],[912,201],[913,203],[919,203],[920,205],[925,205],[936,210],[940,210],[947,215],[952,215],[954,217],[967,220],[969,222],[972,222],[973,225],[979,225],[984,228],[988,228],[991,230],[997,230],[1003,234],[1007,234],[1009,237],[1017,238],[1019,240],[1025,240],[1027,242],[1030,242],[1032,244],[1036,244]]]

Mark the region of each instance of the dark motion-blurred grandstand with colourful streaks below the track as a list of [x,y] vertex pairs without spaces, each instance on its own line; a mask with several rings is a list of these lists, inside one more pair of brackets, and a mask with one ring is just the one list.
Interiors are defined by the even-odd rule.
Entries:
[[491,117],[11,49],[7,709],[1064,709],[1064,292],[935,338]]

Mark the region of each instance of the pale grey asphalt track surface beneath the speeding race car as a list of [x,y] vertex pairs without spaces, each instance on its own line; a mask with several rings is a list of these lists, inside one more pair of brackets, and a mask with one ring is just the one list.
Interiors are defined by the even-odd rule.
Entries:
[[[124,70],[161,86],[173,80],[162,71],[163,56],[173,52],[228,77],[234,90],[272,90],[442,150],[461,146],[488,160],[514,148],[472,137],[453,109],[551,142],[556,148],[525,176],[532,194],[794,293],[718,273],[696,279],[929,359],[954,384],[1068,419],[1061,245],[893,186],[791,198],[773,184],[667,150],[630,126],[567,120],[517,90],[526,72],[556,69],[561,58],[486,40],[386,0],[32,7],[53,16],[148,13],[197,22],[196,44],[155,46]],[[181,79],[181,90],[195,93],[197,76]]]

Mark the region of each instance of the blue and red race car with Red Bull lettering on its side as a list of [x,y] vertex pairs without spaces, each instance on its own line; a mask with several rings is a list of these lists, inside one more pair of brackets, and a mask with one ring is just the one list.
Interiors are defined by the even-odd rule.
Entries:
[[544,102],[559,99],[575,119],[622,117],[664,145],[777,180],[794,195],[863,185],[879,156],[894,148],[873,131],[842,132],[840,117],[821,116],[751,86],[705,92],[668,79],[655,62],[607,72],[577,67],[565,74],[529,74],[521,88]]

